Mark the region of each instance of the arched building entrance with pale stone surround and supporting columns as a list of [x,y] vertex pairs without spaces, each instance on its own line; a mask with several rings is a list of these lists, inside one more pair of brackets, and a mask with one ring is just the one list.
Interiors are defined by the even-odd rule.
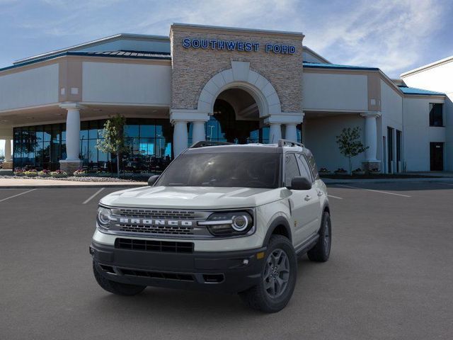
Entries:
[[173,108],[170,120],[177,156],[201,140],[276,143],[284,136],[296,141],[302,113],[283,113],[270,81],[250,69],[249,62],[231,61],[231,69],[203,86],[196,108]]

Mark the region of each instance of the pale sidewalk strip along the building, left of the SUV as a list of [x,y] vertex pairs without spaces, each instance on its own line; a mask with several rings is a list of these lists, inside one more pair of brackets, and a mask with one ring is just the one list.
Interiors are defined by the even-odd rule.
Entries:
[[58,179],[0,179],[0,190],[2,188],[127,188],[132,186],[147,186],[147,182],[83,182],[64,181]]

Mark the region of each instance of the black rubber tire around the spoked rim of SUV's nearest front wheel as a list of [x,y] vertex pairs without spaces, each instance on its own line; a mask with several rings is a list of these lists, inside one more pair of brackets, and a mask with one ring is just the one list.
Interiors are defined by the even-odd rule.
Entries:
[[[268,263],[270,254],[275,254],[275,251],[279,251],[279,249],[287,256],[289,278],[287,279],[285,290],[282,291],[280,296],[273,298],[270,297],[265,288],[265,271],[266,267],[270,265],[270,263]],[[239,293],[239,296],[248,307],[251,307],[254,310],[260,310],[265,313],[275,313],[285,308],[294,292],[297,279],[297,255],[289,239],[281,235],[273,235],[270,237],[264,259],[260,283],[245,292]]]

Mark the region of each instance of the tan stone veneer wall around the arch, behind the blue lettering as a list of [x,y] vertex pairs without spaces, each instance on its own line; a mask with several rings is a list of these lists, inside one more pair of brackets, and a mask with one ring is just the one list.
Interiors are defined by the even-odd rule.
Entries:
[[[184,38],[239,40],[259,42],[258,52],[229,50],[203,50],[183,47]],[[231,68],[231,61],[250,62],[250,68],[273,84],[280,98],[282,112],[302,112],[302,36],[282,33],[253,33],[218,30],[210,28],[193,30],[190,27],[172,26],[172,81],[171,108],[196,109],[198,97],[211,77]],[[293,55],[265,52],[265,44],[294,45]]]

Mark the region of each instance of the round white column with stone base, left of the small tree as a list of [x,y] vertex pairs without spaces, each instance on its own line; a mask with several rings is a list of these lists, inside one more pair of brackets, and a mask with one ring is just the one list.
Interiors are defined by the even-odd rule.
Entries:
[[67,110],[66,116],[66,159],[59,161],[59,169],[72,175],[80,169],[80,111],[84,108],[78,103],[64,103],[60,108]]

